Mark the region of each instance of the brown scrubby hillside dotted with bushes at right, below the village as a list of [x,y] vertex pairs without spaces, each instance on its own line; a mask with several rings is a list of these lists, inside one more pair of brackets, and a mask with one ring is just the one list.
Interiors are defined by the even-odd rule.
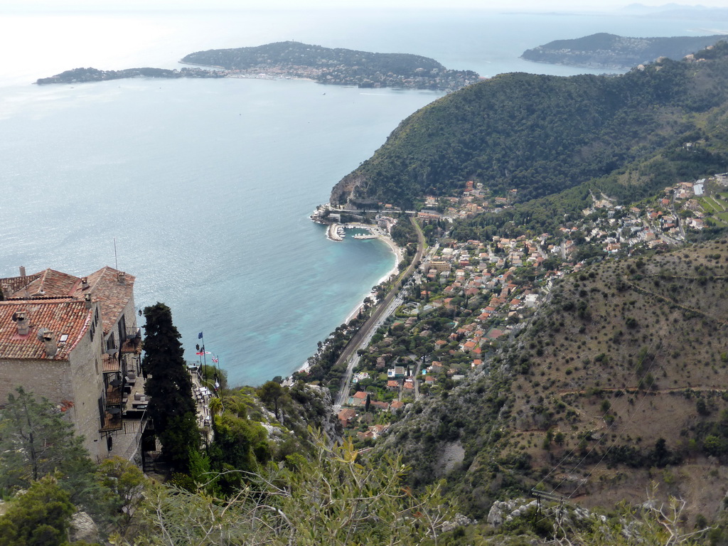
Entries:
[[639,505],[653,483],[691,525],[724,517],[727,251],[716,240],[570,274],[488,365],[415,403],[375,451],[403,452],[414,486],[445,478],[478,521],[532,488],[596,508]]

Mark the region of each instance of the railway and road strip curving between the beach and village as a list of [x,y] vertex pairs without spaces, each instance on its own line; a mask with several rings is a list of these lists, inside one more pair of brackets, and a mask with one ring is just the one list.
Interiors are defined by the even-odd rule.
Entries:
[[[417,232],[417,253],[414,258],[412,258],[412,263],[407,269],[405,269],[405,272],[401,274],[400,277],[397,277],[398,280],[406,279],[414,272],[415,264],[422,259],[422,253],[424,252],[424,234],[422,234],[422,229],[420,229],[414,217],[411,217],[410,221]],[[333,405],[333,411],[335,414],[339,413],[341,406],[344,405],[347,401],[347,397],[349,397],[349,384],[352,382],[352,373],[354,372],[355,365],[359,363],[359,357],[356,354],[357,350],[363,349],[369,344],[369,341],[371,341],[376,329],[384,323],[384,319],[395,312],[395,309],[403,303],[404,295],[400,292],[400,289],[397,288],[397,285],[399,284],[398,280],[392,286],[392,290],[389,290],[387,295],[384,296],[381,303],[374,308],[371,313],[371,317],[369,317],[362,327],[359,328],[359,331],[354,334],[354,337],[352,337],[349,341],[347,347],[344,347],[344,350],[339,356],[339,360],[336,360],[336,363],[334,364],[334,366],[338,366],[343,363],[347,363],[347,371],[341,378],[339,394],[336,395],[336,400]]]

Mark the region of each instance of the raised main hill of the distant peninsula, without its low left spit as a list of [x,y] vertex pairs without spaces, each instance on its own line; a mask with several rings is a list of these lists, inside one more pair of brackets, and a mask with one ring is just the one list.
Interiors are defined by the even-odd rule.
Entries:
[[479,79],[473,71],[448,70],[438,61],[421,55],[332,49],[298,41],[199,51],[186,55],[181,62],[224,68],[237,76],[265,74],[357,87],[450,91]]

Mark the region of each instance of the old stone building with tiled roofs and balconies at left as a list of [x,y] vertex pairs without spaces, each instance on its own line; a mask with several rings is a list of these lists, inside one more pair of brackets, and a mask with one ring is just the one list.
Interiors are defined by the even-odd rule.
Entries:
[[21,386],[46,397],[96,461],[138,459],[146,427],[134,280],[108,266],[0,279],[0,405]]

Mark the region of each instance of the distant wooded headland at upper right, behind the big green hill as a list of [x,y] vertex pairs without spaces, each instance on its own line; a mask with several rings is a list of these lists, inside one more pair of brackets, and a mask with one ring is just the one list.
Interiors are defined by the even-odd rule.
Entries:
[[626,69],[652,63],[661,57],[680,60],[686,55],[725,39],[714,36],[673,36],[669,38],[629,38],[605,32],[569,40],[555,40],[526,50],[521,58],[588,68]]

